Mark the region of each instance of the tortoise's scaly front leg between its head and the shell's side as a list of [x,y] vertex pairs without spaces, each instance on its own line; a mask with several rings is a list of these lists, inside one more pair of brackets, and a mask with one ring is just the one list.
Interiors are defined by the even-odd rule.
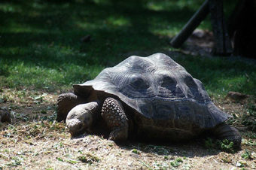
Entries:
[[124,114],[122,104],[113,98],[105,99],[102,117],[111,130],[108,140],[125,141],[128,136],[128,119]]

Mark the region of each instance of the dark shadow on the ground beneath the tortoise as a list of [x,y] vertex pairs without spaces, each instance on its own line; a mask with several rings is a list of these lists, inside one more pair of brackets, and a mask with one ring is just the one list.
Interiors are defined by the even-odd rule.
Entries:
[[[72,138],[72,140],[81,141],[81,139],[87,138],[88,135],[96,134],[85,133]],[[108,140],[108,135],[102,134],[101,132],[99,132],[97,136]],[[198,136],[190,141],[166,141],[164,139],[141,141],[138,139],[127,139],[127,141],[115,142],[115,144],[123,150],[127,150],[130,153],[136,153],[138,155],[140,153],[153,153],[158,156],[181,156],[193,158],[195,156],[212,156],[221,153],[221,150],[218,150],[218,148],[207,148],[204,144],[205,141],[206,136]]]

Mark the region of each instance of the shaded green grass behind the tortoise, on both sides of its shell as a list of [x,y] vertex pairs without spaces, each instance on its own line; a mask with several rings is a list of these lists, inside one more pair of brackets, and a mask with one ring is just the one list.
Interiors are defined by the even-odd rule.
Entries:
[[[204,0],[28,0],[0,2],[0,88],[54,91],[96,77],[136,53],[171,49],[176,35]],[[229,1],[227,1],[229,2]],[[226,3],[227,3],[226,2]],[[227,5],[228,14],[233,7]],[[205,20],[201,29],[210,29]],[[91,35],[90,42],[81,38]],[[175,59],[211,94],[255,95],[255,66],[240,59]],[[246,76],[248,75],[248,77]]]

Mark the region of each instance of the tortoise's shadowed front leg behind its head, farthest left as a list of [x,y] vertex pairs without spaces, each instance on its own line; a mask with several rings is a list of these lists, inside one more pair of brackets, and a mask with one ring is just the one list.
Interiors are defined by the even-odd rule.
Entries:
[[66,121],[66,117],[69,111],[76,105],[85,103],[86,100],[80,96],[76,96],[73,93],[63,93],[58,96],[57,99],[57,121]]

